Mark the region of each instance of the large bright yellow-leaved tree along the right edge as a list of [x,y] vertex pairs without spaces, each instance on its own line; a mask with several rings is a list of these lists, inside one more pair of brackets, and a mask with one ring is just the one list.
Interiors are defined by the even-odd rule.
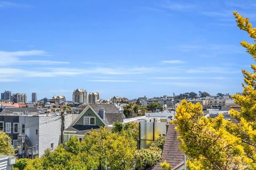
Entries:
[[[254,44],[241,42],[256,60],[256,28],[248,18],[234,12],[237,26],[247,31]],[[256,65],[253,72],[242,70],[243,93],[232,97],[241,106],[241,111],[230,110],[238,123],[216,118],[203,117],[201,104],[183,100],[177,108],[173,124],[177,125],[180,148],[187,155],[189,169],[255,169],[256,168]],[[199,92],[202,96],[203,93]]]

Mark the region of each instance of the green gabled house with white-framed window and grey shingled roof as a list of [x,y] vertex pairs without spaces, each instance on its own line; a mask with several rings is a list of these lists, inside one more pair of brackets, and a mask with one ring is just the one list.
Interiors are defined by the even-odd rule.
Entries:
[[64,130],[64,141],[77,136],[80,141],[91,129],[112,125],[125,118],[115,104],[87,104],[85,109],[75,118],[74,122]]

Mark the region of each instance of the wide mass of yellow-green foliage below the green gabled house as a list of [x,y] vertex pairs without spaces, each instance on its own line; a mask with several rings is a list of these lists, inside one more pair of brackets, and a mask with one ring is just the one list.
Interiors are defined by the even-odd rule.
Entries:
[[[118,125],[118,123],[116,123]],[[110,131],[100,128],[85,134],[84,141],[70,137],[65,148],[59,145],[54,151],[46,150],[41,158],[28,161],[20,159],[15,168],[20,170],[39,169],[98,169],[100,166],[110,169],[132,169],[134,167],[134,152],[137,142],[133,140],[133,130],[136,124],[122,125],[122,129]],[[106,165],[107,158],[107,165]]]

